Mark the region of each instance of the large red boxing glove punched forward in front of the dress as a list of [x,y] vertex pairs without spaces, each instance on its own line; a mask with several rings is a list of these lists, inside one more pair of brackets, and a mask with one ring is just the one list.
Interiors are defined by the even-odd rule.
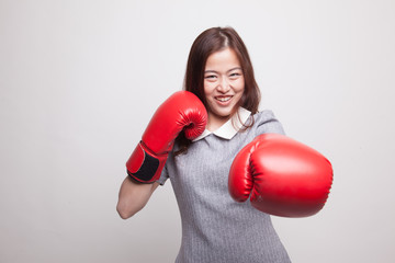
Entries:
[[250,197],[258,210],[282,217],[307,217],[325,205],[332,183],[330,162],[318,151],[279,134],[263,134],[236,156],[229,193]]

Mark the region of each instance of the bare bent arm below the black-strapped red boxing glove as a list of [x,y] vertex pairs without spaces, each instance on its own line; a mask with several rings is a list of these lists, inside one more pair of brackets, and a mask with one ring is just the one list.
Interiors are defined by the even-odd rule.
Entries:
[[140,184],[127,176],[120,190],[116,210],[122,219],[127,219],[144,208],[159,183]]

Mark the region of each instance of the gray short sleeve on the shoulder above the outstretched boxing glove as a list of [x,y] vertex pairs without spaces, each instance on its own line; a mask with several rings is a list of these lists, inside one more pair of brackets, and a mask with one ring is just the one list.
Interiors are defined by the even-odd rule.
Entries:
[[264,110],[256,114],[256,136],[261,134],[282,134],[285,135],[282,124],[276,119],[273,112]]

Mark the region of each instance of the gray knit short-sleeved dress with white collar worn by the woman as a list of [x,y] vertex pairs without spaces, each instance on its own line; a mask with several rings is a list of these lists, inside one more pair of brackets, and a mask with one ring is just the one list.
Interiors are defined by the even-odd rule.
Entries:
[[270,216],[249,202],[235,202],[228,193],[228,172],[237,152],[260,134],[284,134],[271,111],[245,119],[252,117],[253,126],[245,132],[230,128],[229,135],[235,126],[230,119],[218,133],[206,130],[188,153],[170,153],[158,182],[170,179],[181,214],[177,263],[291,262]]

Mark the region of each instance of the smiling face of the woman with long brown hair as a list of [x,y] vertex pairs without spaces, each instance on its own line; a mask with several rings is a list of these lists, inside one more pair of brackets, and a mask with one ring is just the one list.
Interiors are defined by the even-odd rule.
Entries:
[[208,130],[217,129],[230,118],[244,90],[245,79],[236,53],[227,47],[210,55],[204,69]]

